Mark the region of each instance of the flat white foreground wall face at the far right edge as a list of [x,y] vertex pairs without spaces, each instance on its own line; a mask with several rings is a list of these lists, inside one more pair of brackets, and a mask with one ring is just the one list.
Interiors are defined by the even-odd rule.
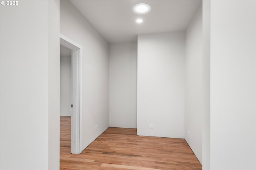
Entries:
[[210,4],[210,169],[256,169],[256,1]]

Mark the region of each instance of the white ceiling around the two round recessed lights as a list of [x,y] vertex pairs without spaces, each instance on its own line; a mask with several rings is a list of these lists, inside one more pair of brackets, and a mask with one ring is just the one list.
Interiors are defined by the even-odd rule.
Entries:
[[[202,0],[70,0],[109,43],[135,42],[138,34],[186,30]],[[138,3],[147,3],[145,15],[132,12]],[[137,18],[144,19],[141,24]]]

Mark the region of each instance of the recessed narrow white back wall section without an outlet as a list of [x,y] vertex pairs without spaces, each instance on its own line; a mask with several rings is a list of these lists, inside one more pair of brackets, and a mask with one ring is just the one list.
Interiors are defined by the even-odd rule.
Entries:
[[110,44],[109,126],[137,128],[137,43]]

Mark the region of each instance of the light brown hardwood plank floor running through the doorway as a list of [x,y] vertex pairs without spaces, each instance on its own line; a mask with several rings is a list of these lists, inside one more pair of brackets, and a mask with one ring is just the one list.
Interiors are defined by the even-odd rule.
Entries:
[[60,117],[60,170],[202,170],[184,139],[137,136],[108,128],[81,154],[70,154],[70,117]]

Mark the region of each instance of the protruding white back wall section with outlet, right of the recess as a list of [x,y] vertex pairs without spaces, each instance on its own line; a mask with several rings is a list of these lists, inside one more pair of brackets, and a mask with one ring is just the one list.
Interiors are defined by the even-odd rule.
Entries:
[[184,138],[184,55],[184,32],[138,35],[138,135]]

